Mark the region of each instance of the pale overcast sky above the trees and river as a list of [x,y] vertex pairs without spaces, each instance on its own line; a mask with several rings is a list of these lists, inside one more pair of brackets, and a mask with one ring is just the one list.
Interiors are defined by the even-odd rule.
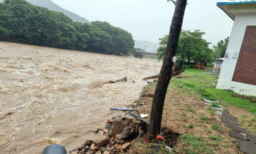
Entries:
[[[60,7],[86,18],[107,21],[132,33],[134,39],[159,42],[169,33],[174,4],[167,0],[52,0]],[[227,0],[219,0],[227,1]],[[217,0],[188,0],[183,29],[200,29],[204,39],[217,44],[230,36],[233,26]]]

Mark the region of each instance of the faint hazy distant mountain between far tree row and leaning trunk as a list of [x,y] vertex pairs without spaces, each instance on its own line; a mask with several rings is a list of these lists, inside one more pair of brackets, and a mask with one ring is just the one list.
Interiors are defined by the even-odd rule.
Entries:
[[148,53],[157,53],[159,45],[148,41],[138,41],[135,39],[135,48],[140,48]]

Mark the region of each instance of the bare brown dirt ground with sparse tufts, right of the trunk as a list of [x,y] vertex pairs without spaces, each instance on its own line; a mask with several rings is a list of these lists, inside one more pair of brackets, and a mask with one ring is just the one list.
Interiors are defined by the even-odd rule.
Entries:
[[[143,94],[154,95],[155,87],[155,84],[146,86]],[[145,104],[140,106],[141,113],[150,115],[152,100],[153,98],[151,97],[140,98],[139,104]],[[178,86],[169,86],[162,115],[162,128],[170,128],[173,133],[179,134],[176,141],[177,145],[173,147],[173,153],[241,153],[234,143],[235,139],[228,136],[230,129],[225,127],[214,110],[204,103],[195,92],[185,88],[178,88]],[[245,109],[238,109],[233,106],[226,106],[225,109],[236,115],[239,121],[243,121],[244,128],[255,125],[255,123],[249,123],[244,119],[245,117],[255,117]],[[149,121],[149,119],[150,117],[145,120]],[[217,126],[217,129],[214,129],[213,126]],[[254,134],[256,133],[255,129],[249,130]],[[190,138],[191,141],[186,141],[186,135],[200,138],[205,143],[203,145],[205,149],[197,151],[196,148],[191,146],[193,143],[190,143],[193,142],[192,139],[194,138]]]

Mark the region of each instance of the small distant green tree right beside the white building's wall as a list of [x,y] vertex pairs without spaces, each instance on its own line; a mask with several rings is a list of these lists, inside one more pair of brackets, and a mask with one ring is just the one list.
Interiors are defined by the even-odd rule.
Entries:
[[217,58],[223,58],[226,50],[227,50],[227,44],[229,42],[230,37],[227,37],[224,40],[220,40],[217,45],[214,45],[214,53],[215,53],[215,59]]

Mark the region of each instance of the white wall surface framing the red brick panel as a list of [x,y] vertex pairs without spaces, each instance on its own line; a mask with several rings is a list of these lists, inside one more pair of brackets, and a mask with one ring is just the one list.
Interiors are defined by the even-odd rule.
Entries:
[[238,58],[233,58],[233,54],[239,54],[240,52],[246,26],[256,26],[256,13],[236,14],[236,19],[230,36],[230,42],[228,43],[226,50],[228,58],[224,58],[217,88],[230,89],[236,93],[241,93],[247,96],[256,96],[256,85],[232,81],[233,74],[236,69],[236,62],[238,60]]

